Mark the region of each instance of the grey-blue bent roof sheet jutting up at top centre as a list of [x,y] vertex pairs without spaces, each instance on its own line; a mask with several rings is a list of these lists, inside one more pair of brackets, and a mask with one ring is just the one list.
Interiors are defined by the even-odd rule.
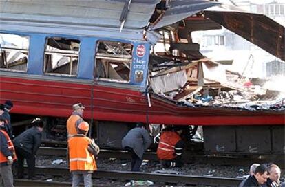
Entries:
[[176,0],[170,1],[168,8],[165,11],[162,19],[158,21],[156,25],[151,28],[156,30],[162,28],[166,25],[171,25],[182,19],[190,17],[193,14],[200,12],[201,10],[210,8],[215,5],[220,5],[220,3],[209,1],[209,0]]

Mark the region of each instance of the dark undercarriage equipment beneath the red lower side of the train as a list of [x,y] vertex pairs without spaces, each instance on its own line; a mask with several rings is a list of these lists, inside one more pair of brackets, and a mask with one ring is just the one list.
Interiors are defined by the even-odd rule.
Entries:
[[[28,128],[32,115],[12,115],[14,135]],[[18,120],[18,121],[17,121]],[[67,118],[43,117],[45,129],[43,140],[65,142]],[[91,121],[89,136],[94,138],[101,148],[120,150],[121,140],[129,129],[136,124],[132,122]],[[162,124],[148,126],[152,138],[162,129]],[[251,126],[195,126],[191,125],[182,133],[187,148],[202,151],[208,155],[284,155],[285,126],[251,125]],[[151,146],[156,151],[156,142]]]

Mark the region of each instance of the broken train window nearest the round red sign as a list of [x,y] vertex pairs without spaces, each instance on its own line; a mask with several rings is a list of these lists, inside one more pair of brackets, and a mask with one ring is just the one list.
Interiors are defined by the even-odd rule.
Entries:
[[[106,45],[107,43],[107,45]],[[108,46],[114,44],[117,46],[113,47],[119,47],[118,49],[112,49],[111,47]],[[100,45],[105,45],[107,47],[107,50],[99,49]],[[130,50],[127,50],[124,48],[124,45],[127,47],[130,47]],[[115,52],[115,50],[117,50]],[[133,61],[133,50],[134,50],[134,45],[133,43],[130,42],[121,42],[121,41],[109,41],[109,40],[98,40],[96,41],[96,51],[95,51],[95,61],[94,61],[94,78],[96,80],[102,80],[105,82],[109,83],[130,83],[131,82],[131,65]],[[103,52],[102,52],[103,51]],[[108,53],[109,52],[109,53]],[[101,65],[99,65],[101,63]],[[129,74],[119,73],[118,71],[122,70],[116,70],[116,67],[119,67],[121,64],[123,64],[123,69],[127,67],[129,69]],[[99,67],[100,66],[100,67]],[[112,67],[112,70],[109,69],[109,67]],[[120,66],[122,67],[122,66]],[[100,69],[101,68],[101,69]],[[108,76],[106,77],[101,77],[100,74],[101,72],[98,72],[100,70],[104,71],[104,75]],[[109,78],[109,72],[113,71],[113,76],[120,77],[120,78]],[[111,75],[112,76],[112,75]],[[127,77],[127,80],[126,80]]]

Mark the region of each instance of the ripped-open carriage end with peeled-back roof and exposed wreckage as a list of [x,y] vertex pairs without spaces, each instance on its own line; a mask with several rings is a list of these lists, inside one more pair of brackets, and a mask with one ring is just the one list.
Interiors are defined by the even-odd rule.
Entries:
[[191,39],[193,31],[219,29],[222,25],[284,61],[282,25],[263,14],[244,12],[216,1],[161,1],[151,19],[154,21],[150,30],[160,30],[160,42],[164,47],[169,45],[168,51],[154,50],[150,58],[150,82],[155,94],[189,107],[285,109],[282,85],[268,89],[271,80],[231,72],[203,56],[199,44]]

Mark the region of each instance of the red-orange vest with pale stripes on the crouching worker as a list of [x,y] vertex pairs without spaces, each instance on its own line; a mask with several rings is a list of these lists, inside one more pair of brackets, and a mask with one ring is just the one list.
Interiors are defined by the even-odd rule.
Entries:
[[158,159],[174,159],[176,158],[175,145],[181,140],[181,137],[178,133],[173,131],[163,132],[160,136],[160,141],[158,144],[158,150],[156,154]]

